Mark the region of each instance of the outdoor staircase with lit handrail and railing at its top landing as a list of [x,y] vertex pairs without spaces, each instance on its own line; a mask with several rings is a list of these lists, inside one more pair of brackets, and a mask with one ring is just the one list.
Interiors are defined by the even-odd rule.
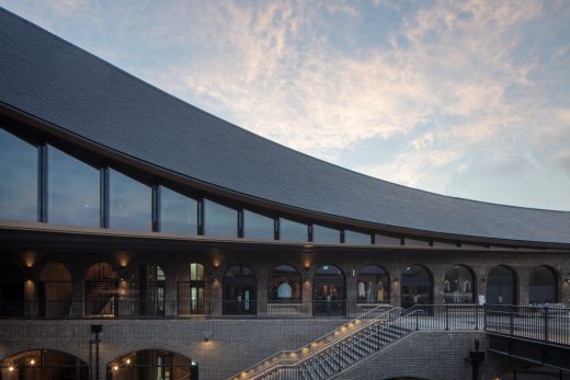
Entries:
[[[414,331],[477,331],[477,306],[414,306],[366,313],[296,352],[281,352],[230,380],[333,379]],[[367,315],[368,314],[368,315]]]

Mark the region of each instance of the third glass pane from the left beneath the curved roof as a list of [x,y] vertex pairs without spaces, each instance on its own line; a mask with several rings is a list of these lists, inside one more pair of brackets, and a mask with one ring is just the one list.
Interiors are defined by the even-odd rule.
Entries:
[[115,170],[109,170],[110,228],[150,231],[152,229],[152,191]]

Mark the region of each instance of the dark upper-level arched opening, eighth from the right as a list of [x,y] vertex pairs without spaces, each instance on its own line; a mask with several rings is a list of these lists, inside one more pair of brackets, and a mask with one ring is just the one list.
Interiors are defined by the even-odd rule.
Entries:
[[223,313],[255,314],[256,286],[255,273],[249,266],[230,266],[224,275]]

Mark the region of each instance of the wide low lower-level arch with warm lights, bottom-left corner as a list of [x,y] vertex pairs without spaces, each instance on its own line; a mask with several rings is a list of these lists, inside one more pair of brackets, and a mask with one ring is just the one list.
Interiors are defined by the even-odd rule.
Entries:
[[88,380],[89,367],[81,359],[57,350],[36,349],[2,360],[0,379],[73,379]]

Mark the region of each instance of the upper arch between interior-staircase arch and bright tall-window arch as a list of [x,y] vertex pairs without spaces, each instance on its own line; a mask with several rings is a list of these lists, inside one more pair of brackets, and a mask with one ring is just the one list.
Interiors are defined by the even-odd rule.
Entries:
[[166,289],[167,277],[160,266],[156,264],[140,265],[133,281],[133,301],[139,302],[140,315],[173,315],[173,306],[169,307],[167,313]]

